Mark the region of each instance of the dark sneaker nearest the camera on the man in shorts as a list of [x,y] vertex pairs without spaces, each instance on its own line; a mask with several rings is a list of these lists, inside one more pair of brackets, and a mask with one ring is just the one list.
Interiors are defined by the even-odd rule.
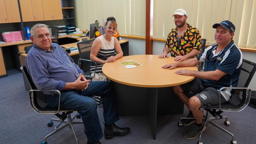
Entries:
[[[201,127],[197,127],[195,124],[193,124],[193,125],[189,126],[187,131],[185,131],[185,133],[183,134],[183,137],[186,139],[195,139],[202,132],[203,128],[204,128],[204,122],[202,122]],[[206,127],[204,128],[204,130],[205,129],[206,129]]]

